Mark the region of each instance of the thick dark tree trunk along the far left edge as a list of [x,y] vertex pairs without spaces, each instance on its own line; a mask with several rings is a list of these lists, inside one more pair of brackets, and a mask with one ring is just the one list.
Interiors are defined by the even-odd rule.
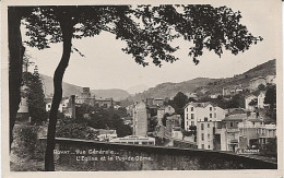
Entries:
[[8,9],[9,28],[9,117],[10,117],[10,151],[13,142],[13,128],[21,102],[21,84],[23,72],[23,56],[25,48],[22,45],[21,14],[15,7]]

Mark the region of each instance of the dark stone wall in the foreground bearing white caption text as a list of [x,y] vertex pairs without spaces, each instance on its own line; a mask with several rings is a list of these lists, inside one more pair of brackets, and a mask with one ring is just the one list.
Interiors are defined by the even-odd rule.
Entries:
[[276,169],[277,167],[270,162],[226,152],[59,138],[56,142],[58,152],[55,154],[56,165],[73,171]]

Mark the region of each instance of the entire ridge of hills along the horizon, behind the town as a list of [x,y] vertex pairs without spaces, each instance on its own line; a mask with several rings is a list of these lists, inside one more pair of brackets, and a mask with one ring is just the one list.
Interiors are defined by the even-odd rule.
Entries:
[[[129,92],[120,88],[109,90],[91,90],[92,96],[102,98],[113,97],[115,100],[130,99],[133,102],[142,100],[149,97],[174,97],[178,92],[196,93],[201,88],[208,90],[211,93],[222,93],[223,87],[230,87],[241,84],[244,87],[249,85],[249,81],[257,76],[275,75],[276,67],[275,59],[259,64],[241,74],[236,74],[233,78],[211,79],[211,78],[196,78],[184,82],[165,82],[159,83],[154,87],[149,87],[144,92],[131,95]],[[50,96],[54,91],[52,78],[40,74],[46,96]],[[81,95],[83,88],[78,85],[63,82],[63,96]]]

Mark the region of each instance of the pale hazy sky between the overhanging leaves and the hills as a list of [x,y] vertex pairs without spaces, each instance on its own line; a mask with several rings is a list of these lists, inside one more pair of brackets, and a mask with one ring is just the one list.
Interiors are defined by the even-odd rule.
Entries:
[[[180,59],[174,63],[163,63],[162,68],[150,63],[143,68],[134,62],[132,56],[121,51],[125,41],[115,39],[113,34],[102,33],[94,38],[73,40],[85,58],[76,52],[71,55],[69,67],[64,74],[64,82],[91,88],[123,88],[145,84],[155,86],[163,82],[182,82],[194,78],[227,78],[242,73],[257,64],[276,58],[275,48],[279,36],[276,13],[270,1],[235,1],[227,5],[234,11],[240,11],[245,24],[253,36],[262,36],[263,41],[252,45],[248,51],[237,56],[225,51],[222,58],[205,51],[200,63],[194,66],[188,56],[189,44],[182,39],[175,44],[180,46],[176,56]],[[25,38],[25,37],[24,37]],[[52,45],[50,49],[37,50],[27,48],[27,54],[38,66],[39,72],[52,76],[60,60],[62,44]],[[151,59],[150,59],[151,61]]]

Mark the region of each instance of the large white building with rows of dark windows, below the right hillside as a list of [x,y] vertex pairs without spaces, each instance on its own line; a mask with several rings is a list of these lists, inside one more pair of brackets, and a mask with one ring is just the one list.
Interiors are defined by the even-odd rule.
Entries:
[[221,121],[225,110],[211,103],[188,103],[185,107],[185,130],[197,126],[198,121]]

